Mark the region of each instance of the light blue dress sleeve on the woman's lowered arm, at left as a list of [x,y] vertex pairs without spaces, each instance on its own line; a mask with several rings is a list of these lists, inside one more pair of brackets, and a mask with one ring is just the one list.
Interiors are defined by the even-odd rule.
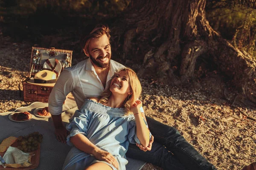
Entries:
[[84,111],[83,109],[77,110],[75,112],[73,118],[70,119],[70,123],[68,123],[66,126],[67,130],[70,131],[70,134],[67,136],[68,145],[73,146],[73,144],[70,142],[70,137],[72,136],[75,136],[79,133],[87,136],[89,121],[90,114],[88,111]]

